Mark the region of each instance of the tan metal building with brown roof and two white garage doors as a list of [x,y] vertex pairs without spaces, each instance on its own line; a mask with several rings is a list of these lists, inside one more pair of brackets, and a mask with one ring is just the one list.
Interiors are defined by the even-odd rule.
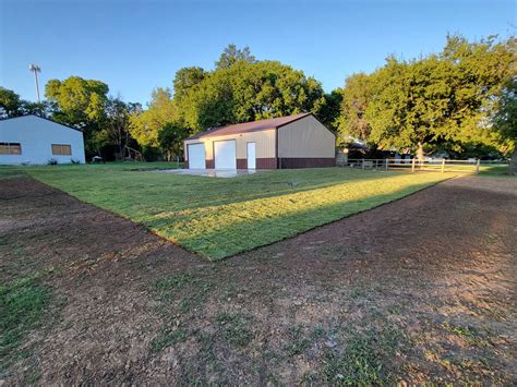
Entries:
[[184,141],[189,169],[334,167],[336,136],[312,113],[238,123]]

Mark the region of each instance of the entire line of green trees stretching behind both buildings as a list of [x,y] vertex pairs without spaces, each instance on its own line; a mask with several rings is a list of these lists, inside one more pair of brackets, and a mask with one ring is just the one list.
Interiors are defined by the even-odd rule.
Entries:
[[101,81],[70,76],[49,81],[41,104],[0,87],[0,117],[36,113],[81,128],[87,155],[108,158],[137,148],[170,159],[182,154],[187,136],[208,128],[299,112],[315,113],[339,143],[359,137],[420,157],[424,148],[508,154],[517,143],[516,46],[514,37],[472,43],[453,35],[438,53],[390,56],[373,73],[353,74],[342,89],[325,93],[302,71],[229,45],[214,70],[178,70],[172,92],[156,88],[145,108],[109,96]]

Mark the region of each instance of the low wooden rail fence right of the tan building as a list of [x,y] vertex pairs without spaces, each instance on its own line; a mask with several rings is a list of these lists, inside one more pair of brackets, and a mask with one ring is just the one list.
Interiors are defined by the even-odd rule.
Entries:
[[476,172],[479,173],[482,166],[505,165],[501,161],[481,161],[481,160],[449,160],[449,159],[428,159],[418,160],[385,158],[385,159],[338,159],[338,167],[349,167],[359,169],[388,170],[402,169],[416,171],[440,171],[440,172]]

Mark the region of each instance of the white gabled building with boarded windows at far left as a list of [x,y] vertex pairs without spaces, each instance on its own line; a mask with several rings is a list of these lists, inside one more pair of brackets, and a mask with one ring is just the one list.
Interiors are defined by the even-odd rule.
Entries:
[[0,165],[85,162],[83,132],[38,116],[0,120]]

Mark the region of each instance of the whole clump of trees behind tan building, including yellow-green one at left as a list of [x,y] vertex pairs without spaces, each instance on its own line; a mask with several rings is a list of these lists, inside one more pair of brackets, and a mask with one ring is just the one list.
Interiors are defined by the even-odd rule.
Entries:
[[248,47],[229,45],[213,71],[180,69],[172,85],[173,95],[157,88],[147,109],[130,120],[139,144],[167,157],[180,153],[184,137],[213,126],[303,111],[322,111],[334,123],[339,114],[339,94],[325,95],[313,77],[280,62],[257,61]]

